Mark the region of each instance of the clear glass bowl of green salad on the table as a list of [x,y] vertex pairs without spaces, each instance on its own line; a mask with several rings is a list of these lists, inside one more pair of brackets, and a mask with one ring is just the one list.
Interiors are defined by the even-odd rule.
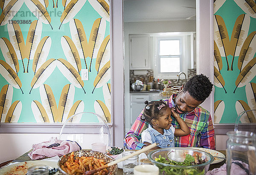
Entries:
[[149,152],[148,159],[162,175],[204,175],[214,160],[207,152],[186,148],[162,148]]

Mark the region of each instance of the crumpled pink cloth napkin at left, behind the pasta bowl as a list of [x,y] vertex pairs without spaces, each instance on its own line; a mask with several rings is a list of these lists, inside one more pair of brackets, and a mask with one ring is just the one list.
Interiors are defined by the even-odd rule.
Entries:
[[67,153],[81,150],[79,144],[74,141],[61,141],[56,137],[51,137],[49,141],[42,143],[35,143],[32,145],[33,151],[28,155],[32,160],[45,157],[54,157],[56,155],[62,156]]

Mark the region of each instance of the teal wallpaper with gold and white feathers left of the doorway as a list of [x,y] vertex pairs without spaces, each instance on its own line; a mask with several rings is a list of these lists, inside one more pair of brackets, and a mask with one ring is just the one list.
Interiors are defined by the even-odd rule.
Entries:
[[[96,112],[111,122],[109,1],[1,0],[0,7],[0,121],[64,122]],[[83,69],[89,80],[81,80]]]

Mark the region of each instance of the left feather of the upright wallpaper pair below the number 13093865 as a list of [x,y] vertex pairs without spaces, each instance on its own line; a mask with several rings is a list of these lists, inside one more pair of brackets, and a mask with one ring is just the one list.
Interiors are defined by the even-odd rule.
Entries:
[[23,65],[23,73],[25,73],[25,66],[23,59],[26,57],[25,53],[25,42],[23,39],[22,32],[20,30],[19,24],[7,24],[7,29],[9,33],[10,42],[12,43],[12,46],[16,52],[18,60],[22,60]]

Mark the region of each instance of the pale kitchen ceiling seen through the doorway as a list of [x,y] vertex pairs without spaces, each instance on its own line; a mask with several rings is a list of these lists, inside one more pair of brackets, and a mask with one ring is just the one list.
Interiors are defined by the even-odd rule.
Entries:
[[124,22],[195,20],[195,0],[124,0]]

